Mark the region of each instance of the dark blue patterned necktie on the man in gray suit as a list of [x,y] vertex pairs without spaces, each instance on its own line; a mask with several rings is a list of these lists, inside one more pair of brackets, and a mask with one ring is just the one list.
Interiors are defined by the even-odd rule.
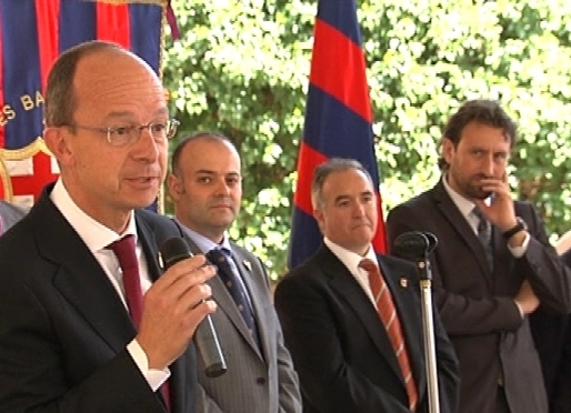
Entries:
[[258,334],[258,326],[256,324],[256,319],[253,318],[250,302],[246,295],[247,293],[237,273],[238,270],[233,268],[233,262],[230,262],[230,260],[232,260],[232,253],[227,249],[213,249],[207,253],[207,258],[212,264],[218,266],[218,275],[232,296],[232,300],[234,301],[238,311],[240,311],[253,342],[259,347],[260,336]]

